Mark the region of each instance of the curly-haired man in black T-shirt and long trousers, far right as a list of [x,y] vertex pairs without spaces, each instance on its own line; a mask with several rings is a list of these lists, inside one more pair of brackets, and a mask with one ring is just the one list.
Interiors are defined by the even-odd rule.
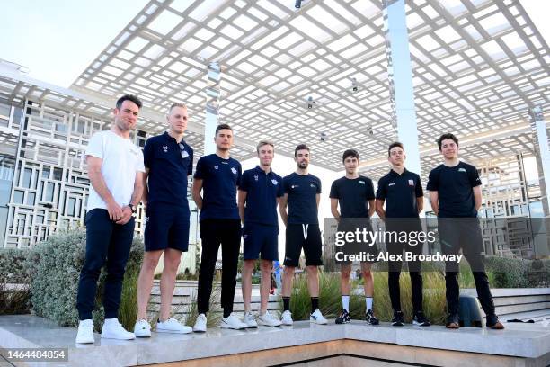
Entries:
[[[483,237],[477,219],[477,211],[482,205],[481,179],[475,166],[458,160],[456,136],[441,135],[438,146],[444,161],[442,165],[431,170],[427,190],[430,191],[431,208],[438,216],[441,250],[444,254],[458,254],[462,248],[474,274],[477,297],[487,316],[486,325],[493,329],[502,329],[504,326],[494,312],[483,264]],[[459,327],[458,272],[457,262],[445,264],[448,328]]]

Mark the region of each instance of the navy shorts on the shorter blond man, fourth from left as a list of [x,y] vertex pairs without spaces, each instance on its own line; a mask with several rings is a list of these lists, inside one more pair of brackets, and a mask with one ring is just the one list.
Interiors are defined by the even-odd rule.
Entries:
[[262,260],[278,260],[279,228],[257,223],[244,223],[243,228],[243,258],[256,260],[260,254]]

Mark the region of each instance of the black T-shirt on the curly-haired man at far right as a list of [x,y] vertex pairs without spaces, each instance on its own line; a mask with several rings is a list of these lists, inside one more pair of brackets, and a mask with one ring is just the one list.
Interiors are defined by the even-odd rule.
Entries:
[[457,166],[439,165],[432,169],[426,190],[438,192],[440,218],[476,218],[474,191],[481,184],[475,166],[460,162]]

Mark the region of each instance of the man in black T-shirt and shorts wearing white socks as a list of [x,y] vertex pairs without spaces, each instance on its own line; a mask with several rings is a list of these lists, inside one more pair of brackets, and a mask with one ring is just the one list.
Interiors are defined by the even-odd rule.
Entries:
[[[331,186],[331,212],[338,221],[338,231],[355,232],[357,229],[367,228],[372,231],[369,218],[375,210],[375,194],[372,180],[359,175],[359,153],[355,149],[348,149],[342,155],[342,164],[346,175],[334,181]],[[340,204],[340,211],[338,210]],[[369,242],[348,242],[343,247],[346,255],[357,255],[361,252],[371,254],[376,258],[377,247]],[[351,262],[343,261],[340,272],[340,290],[342,292],[342,313],[336,318],[336,324],[346,324],[350,318],[350,274]],[[365,319],[370,325],[378,325],[379,321],[373,311],[374,279],[370,273],[370,263],[361,262],[363,287],[365,290],[366,314]]]

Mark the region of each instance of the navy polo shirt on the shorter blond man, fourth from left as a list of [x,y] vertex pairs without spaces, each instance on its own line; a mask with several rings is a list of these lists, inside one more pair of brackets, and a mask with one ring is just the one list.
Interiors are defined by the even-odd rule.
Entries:
[[284,195],[279,175],[272,170],[266,173],[260,166],[256,166],[243,172],[239,190],[246,192],[245,223],[279,226],[277,198]]

